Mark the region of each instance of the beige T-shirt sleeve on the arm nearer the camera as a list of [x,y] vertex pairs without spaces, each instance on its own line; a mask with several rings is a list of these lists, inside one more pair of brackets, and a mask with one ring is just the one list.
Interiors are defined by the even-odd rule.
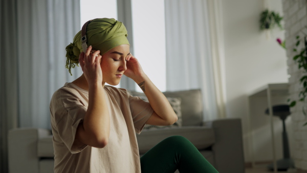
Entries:
[[72,154],[79,153],[87,145],[84,143],[76,143],[75,136],[77,127],[83,121],[87,107],[77,95],[59,90],[58,99],[51,100],[51,110],[56,130],[61,141],[67,146]]

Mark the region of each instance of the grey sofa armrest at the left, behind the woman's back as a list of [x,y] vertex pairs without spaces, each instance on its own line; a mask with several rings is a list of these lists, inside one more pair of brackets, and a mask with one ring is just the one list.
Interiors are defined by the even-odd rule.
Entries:
[[8,134],[9,172],[38,173],[38,139],[51,134],[48,129],[16,128]]

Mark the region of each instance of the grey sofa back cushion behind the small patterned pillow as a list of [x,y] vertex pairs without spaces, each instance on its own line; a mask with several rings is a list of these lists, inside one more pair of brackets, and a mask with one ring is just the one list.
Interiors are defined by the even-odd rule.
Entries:
[[[128,91],[133,96],[147,100],[144,93]],[[203,122],[203,100],[200,89],[163,92],[165,97],[181,98],[182,125],[201,125]]]

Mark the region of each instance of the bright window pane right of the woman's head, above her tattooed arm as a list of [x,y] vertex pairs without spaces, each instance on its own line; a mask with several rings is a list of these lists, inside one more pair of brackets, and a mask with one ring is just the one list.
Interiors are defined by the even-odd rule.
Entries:
[[[164,0],[131,0],[134,55],[160,91],[166,90]],[[142,91],[136,86],[137,91]]]

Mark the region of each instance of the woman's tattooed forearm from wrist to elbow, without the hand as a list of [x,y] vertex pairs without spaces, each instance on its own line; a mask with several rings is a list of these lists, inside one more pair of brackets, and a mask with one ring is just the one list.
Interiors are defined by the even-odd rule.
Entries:
[[136,77],[134,81],[138,83],[139,87],[143,90],[153,111],[167,122],[166,125],[173,124],[177,121],[178,117],[176,113],[174,113],[168,100],[147,75],[144,74]]

